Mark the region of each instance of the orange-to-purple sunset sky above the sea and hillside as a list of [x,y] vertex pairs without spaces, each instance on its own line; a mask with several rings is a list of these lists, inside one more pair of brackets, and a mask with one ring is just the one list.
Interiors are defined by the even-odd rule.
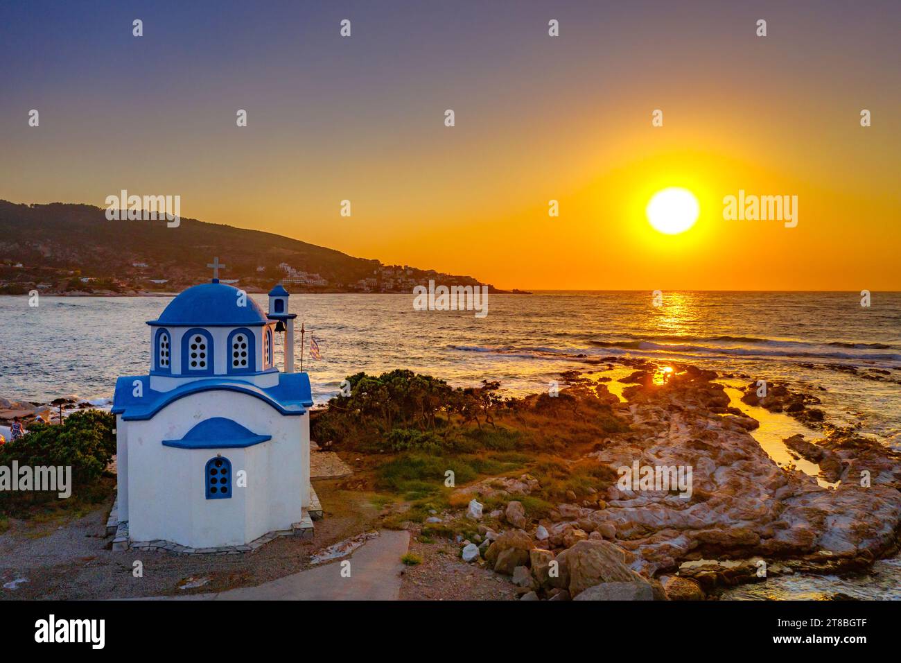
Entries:
[[[276,15],[290,5],[236,4],[151,21],[115,58],[121,17],[73,14],[83,30],[30,41],[28,61],[31,19],[14,18],[0,198],[177,194],[183,216],[501,288],[901,290],[897,5],[583,5],[550,38],[537,3],[478,5],[475,23],[398,3],[360,9],[341,41],[329,9],[300,38]],[[644,217],[670,186],[701,204],[683,235]],[[725,221],[739,189],[797,196],[798,225]]]

